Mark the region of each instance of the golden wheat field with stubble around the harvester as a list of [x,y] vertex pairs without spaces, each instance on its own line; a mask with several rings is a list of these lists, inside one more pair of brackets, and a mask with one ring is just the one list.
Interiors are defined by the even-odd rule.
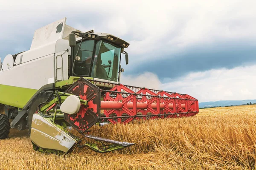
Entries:
[[255,169],[256,105],[201,109],[194,117],[94,126],[93,135],[134,142],[114,153],[67,155],[32,149],[27,132],[0,141],[0,169]]

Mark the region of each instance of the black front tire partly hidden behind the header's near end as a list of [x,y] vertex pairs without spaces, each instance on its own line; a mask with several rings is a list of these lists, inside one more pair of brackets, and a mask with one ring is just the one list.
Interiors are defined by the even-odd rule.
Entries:
[[48,99],[48,97],[50,96],[50,94],[52,94],[52,91],[41,92],[30,103],[29,109],[27,111],[29,133],[31,131],[32,118],[33,118],[34,113],[37,111],[38,105],[45,102]]

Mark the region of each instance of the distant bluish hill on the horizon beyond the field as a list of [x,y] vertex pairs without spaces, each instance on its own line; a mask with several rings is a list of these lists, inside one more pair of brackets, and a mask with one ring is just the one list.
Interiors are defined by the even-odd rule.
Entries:
[[199,103],[199,108],[210,108],[210,107],[223,107],[223,106],[230,106],[230,105],[243,105],[247,103],[256,103],[255,100],[220,100],[216,102],[201,102]]

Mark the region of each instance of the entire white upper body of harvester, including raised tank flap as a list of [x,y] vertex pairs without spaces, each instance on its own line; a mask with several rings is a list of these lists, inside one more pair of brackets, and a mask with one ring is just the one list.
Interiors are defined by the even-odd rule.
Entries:
[[[65,25],[65,21],[66,18],[35,31],[31,49],[18,54],[12,68],[0,71],[0,84],[38,90],[49,83],[67,80],[70,47],[68,40],[62,38],[75,29]],[[56,31],[59,24],[63,25],[62,31],[54,33],[53,27]],[[40,31],[46,31],[45,36]]]

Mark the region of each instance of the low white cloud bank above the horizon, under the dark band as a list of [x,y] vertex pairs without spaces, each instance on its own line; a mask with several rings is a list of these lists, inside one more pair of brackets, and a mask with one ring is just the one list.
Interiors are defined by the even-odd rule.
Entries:
[[212,69],[185,77],[160,82],[156,74],[145,72],[136,76],[122,76],[121,83],[189,94],[199,102],[255,99],[256,65],[233,69]]

